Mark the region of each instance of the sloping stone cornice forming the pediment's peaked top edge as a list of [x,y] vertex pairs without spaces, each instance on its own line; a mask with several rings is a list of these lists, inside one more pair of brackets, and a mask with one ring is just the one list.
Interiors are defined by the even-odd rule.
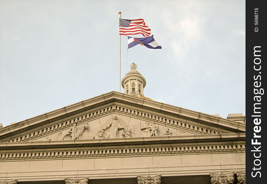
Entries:
[[183,109],[181,107],[176,107],[173,105],[168,105],[161,102],[138,98],[132,95],[112,91],[0,128],[0,136],[11,136],[16,134],[18,131],[27,131],[30,129],[34,129],[38,126],[46,125],[62,118],[68,118],[78,113],[90,113],[91,109],[99,107],[101,105],[106,105],[111,102],[119,102],[126,105],[132,105],[141,109],[149,109],[156,113],[159,112],[174,117],[184,118],[213,127],[223,127],[229,129],[230,131],[246,131],[246,125],[243,123],[238,123],[224,118],[215,117],[188,109]]

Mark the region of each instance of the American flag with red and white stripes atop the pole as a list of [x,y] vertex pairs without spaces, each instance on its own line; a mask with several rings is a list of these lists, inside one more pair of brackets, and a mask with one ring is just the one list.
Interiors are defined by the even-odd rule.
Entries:
[[145,37],[148,37],[151,33],[151,30],[144,22],[144,19],[135,19],[135,20],[127,20],[120,19],[120,35],[134,35],[134,34],[142,34]]

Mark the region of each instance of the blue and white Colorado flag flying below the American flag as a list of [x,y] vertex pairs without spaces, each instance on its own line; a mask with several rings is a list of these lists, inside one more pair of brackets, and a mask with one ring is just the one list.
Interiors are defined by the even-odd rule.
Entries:
[[147,48],[153,48],[153,49],[161,48],[161,46],[159,46],[157,42],[154,40],[153,35],[145,38],[133,38],[128,36],[128,48],[132,48],[138,44],[141,44]]

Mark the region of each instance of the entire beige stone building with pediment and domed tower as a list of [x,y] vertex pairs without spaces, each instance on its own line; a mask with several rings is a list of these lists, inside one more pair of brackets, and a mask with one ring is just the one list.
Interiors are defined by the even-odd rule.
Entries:
[[130,68],[124,93],[0,127],[0,183],[246,183],[245,116],[153,101]]

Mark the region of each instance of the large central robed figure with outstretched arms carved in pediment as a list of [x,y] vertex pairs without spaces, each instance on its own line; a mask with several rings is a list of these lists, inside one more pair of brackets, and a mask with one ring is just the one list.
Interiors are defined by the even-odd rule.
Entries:
[[109,122],[109,124],[102,128],[104,133],[104,138],[118,138],[119,137],[119,130],[124,129],[122,125],[120,124],[120,121],[118,121],[117,116],[114,115],[112,117],[112,121]]

